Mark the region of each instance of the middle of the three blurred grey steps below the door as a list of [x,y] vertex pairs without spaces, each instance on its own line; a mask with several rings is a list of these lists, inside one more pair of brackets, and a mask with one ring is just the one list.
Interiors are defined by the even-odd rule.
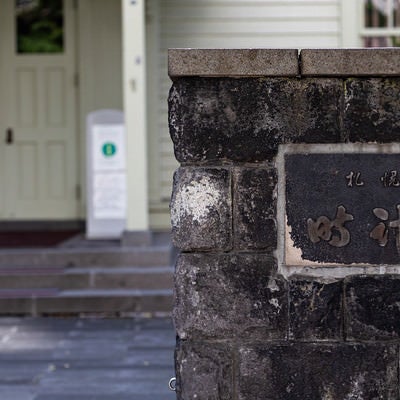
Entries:
[[170,289],[173,267],[0,267],[3,289]]

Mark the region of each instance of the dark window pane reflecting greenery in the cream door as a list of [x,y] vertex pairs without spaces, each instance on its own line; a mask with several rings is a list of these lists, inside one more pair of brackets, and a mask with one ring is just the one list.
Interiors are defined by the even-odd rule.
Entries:
[[64,51],[63,0],[15,0],[18,53]]

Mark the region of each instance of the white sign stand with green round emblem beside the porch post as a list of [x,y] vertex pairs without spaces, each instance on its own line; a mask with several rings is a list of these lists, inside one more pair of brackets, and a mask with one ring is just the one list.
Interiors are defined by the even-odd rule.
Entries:
[[86,129],[86,236],[119,238],[127,208],[124,114],[94,111],[87,117]]

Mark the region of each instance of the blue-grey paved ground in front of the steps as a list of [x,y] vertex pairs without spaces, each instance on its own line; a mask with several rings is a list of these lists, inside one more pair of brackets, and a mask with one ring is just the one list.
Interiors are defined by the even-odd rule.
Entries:
[[0,318],[1,400],[172,400],[170,319]]

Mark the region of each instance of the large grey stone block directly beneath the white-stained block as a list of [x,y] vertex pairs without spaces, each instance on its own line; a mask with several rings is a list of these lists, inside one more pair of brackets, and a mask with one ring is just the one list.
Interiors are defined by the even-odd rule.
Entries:
[[266,254],[182,254],[174,320],[181,338],[286,338],[287,285]]

